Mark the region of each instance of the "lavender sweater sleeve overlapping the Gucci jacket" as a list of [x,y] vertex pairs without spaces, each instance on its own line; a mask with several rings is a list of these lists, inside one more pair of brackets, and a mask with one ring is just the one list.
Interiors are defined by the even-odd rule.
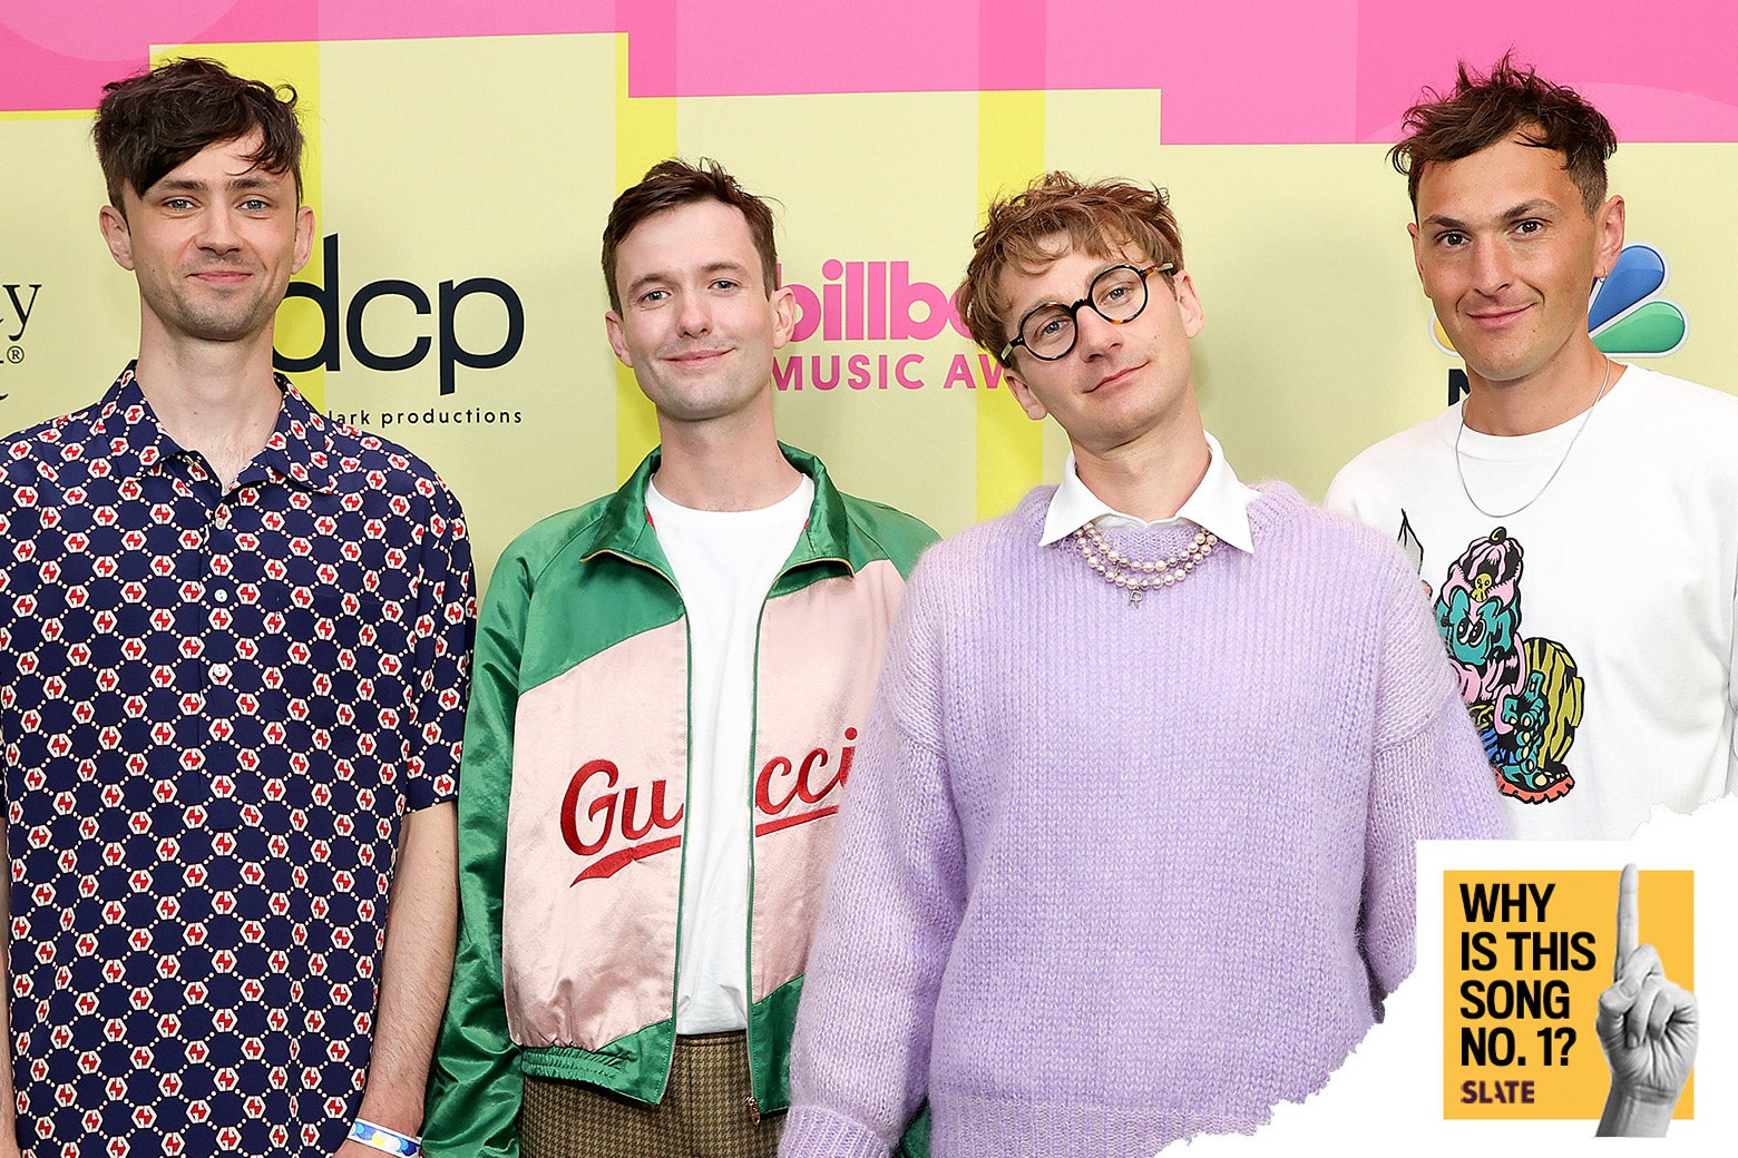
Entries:
[[923,573],[893,627],[839,814],[791,1047],[784,1158],[885,1158],[928,1087],[966,884]]

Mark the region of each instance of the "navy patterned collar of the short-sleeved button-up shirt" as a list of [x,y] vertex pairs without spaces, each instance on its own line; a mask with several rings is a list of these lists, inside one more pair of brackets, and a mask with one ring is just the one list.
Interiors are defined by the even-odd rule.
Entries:
[[[332,464],[330,418],[322,415],[282,373],[275,375],[283,391],[278,422],[266,446],[242,470],[236,483],[275,479],[304,486],[311,491],[337,490]],[[109,467],[116,474],[144,474],[165,458],[184,453],[170,438],[139,389],[134,365],[129,365],[103,401],[97,403],[97,420],[92,434],[99,446],[106,444]]]

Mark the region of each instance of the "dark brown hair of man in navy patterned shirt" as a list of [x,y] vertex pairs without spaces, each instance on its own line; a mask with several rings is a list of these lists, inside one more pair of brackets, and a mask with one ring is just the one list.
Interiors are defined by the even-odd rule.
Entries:
[[202,149],[259,132],[249,163],[268,174],[294,174],[302,196],[302,127],[295,89],[243,80],[217,61],[169,61],[137,76],[103,85],[90,128],[108,181],[109,205],[125,212],[122,193],[162,181]]

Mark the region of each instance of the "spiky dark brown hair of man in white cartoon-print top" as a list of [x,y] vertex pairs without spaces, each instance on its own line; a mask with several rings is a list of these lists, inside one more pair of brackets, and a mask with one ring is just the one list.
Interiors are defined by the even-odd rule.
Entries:
[[1562,153],[1589,215],[1606,200],[1606,161],[1618,151],[1611,122],[1573,89],[1554,85],[1510,56],[1503,54],[1484,76],[1460,61],[1453,92],[1425,89],[1423,99],[1406,109],[1406,137],[1389,149],[1389,160],[1406,174],[1415,212],[1425,165],[1458,161],[1516,134],[1533,148]]

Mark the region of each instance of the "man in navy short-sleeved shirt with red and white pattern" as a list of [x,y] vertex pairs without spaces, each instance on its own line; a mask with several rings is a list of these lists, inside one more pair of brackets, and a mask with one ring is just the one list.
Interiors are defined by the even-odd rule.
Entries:
[[313,238],[294,90],[176,61],[94,135],[139,356],[5,443],[0,1156],[415,1153],[464,519],[273,373]]

